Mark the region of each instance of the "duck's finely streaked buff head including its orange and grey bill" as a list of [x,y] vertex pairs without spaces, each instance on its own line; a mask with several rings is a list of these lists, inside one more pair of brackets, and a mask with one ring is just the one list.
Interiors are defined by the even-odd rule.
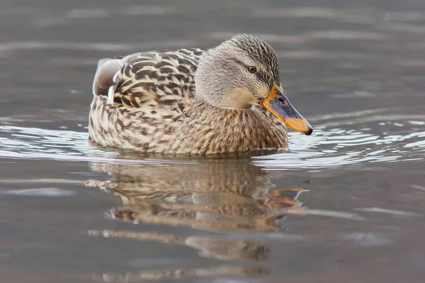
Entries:
[[310,135],[312,126],[294,108],[280,84],[278,55],[252,35],[236,35],[201,57],[196,94],[221,109],[261,105],[286,126]]

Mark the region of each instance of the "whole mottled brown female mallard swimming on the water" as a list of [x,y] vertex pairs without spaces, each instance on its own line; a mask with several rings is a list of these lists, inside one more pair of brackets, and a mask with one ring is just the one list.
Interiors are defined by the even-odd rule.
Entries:
[[312,133],[280,86],[276,52],[251,35],[100,60],[93,92],[89,135],[100,145],[212,154],[287,148],[282,122]]

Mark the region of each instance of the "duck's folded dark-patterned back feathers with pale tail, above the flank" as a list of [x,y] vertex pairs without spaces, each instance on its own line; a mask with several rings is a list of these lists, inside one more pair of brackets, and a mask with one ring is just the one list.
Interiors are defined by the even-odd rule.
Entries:
[[139,108],[146,101],[179,101],[195,87],[194,74],[205,50],[140,52],[99,60],[94,95],[108,96],[114,106]]

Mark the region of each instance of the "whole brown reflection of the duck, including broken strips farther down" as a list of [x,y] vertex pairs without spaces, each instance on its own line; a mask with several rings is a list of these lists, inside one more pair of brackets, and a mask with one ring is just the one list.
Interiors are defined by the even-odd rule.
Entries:
[[[279,220],[285,216],[285,209],[300,208],[297,196],[305,191],[288,188],[269,194],[273,183],[268,173],[251,165],[250,160],[241,159],[149,166],[96,162],[91,163],[91,169],[113,176],[106,180],[87,180],[86,187],[103,189],[120,197],[123,205],[111,210],[115,219],[208,231],[276,231],[280,228]],[[224,236],[134,231],[92,231],[91,234],[186,245],[198,250],[200,256],[225,261],[261,262],[270,253],[268,246],[260,240]],[[228,270],[229,275],[239,272],[241,276],[253,275],[252,272],[268,273],[265,267],[220,267],[215,272],[220,274],[223,270]],[[146,274],[152,275],[152,271],[146,272],[138,272],[137,277],[142,279]],[[171,270],[154,274],[164,278],[164,272],[174,274]]]

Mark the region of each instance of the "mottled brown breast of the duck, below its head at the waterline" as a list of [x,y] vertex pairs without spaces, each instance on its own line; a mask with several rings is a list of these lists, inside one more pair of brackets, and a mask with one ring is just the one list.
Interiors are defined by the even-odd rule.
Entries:
[[287,148],[285,126],[257,107],[244,110],[219,109],[193,101],[186,112],[180,145],[192,153],[213,154],[256,149]]

